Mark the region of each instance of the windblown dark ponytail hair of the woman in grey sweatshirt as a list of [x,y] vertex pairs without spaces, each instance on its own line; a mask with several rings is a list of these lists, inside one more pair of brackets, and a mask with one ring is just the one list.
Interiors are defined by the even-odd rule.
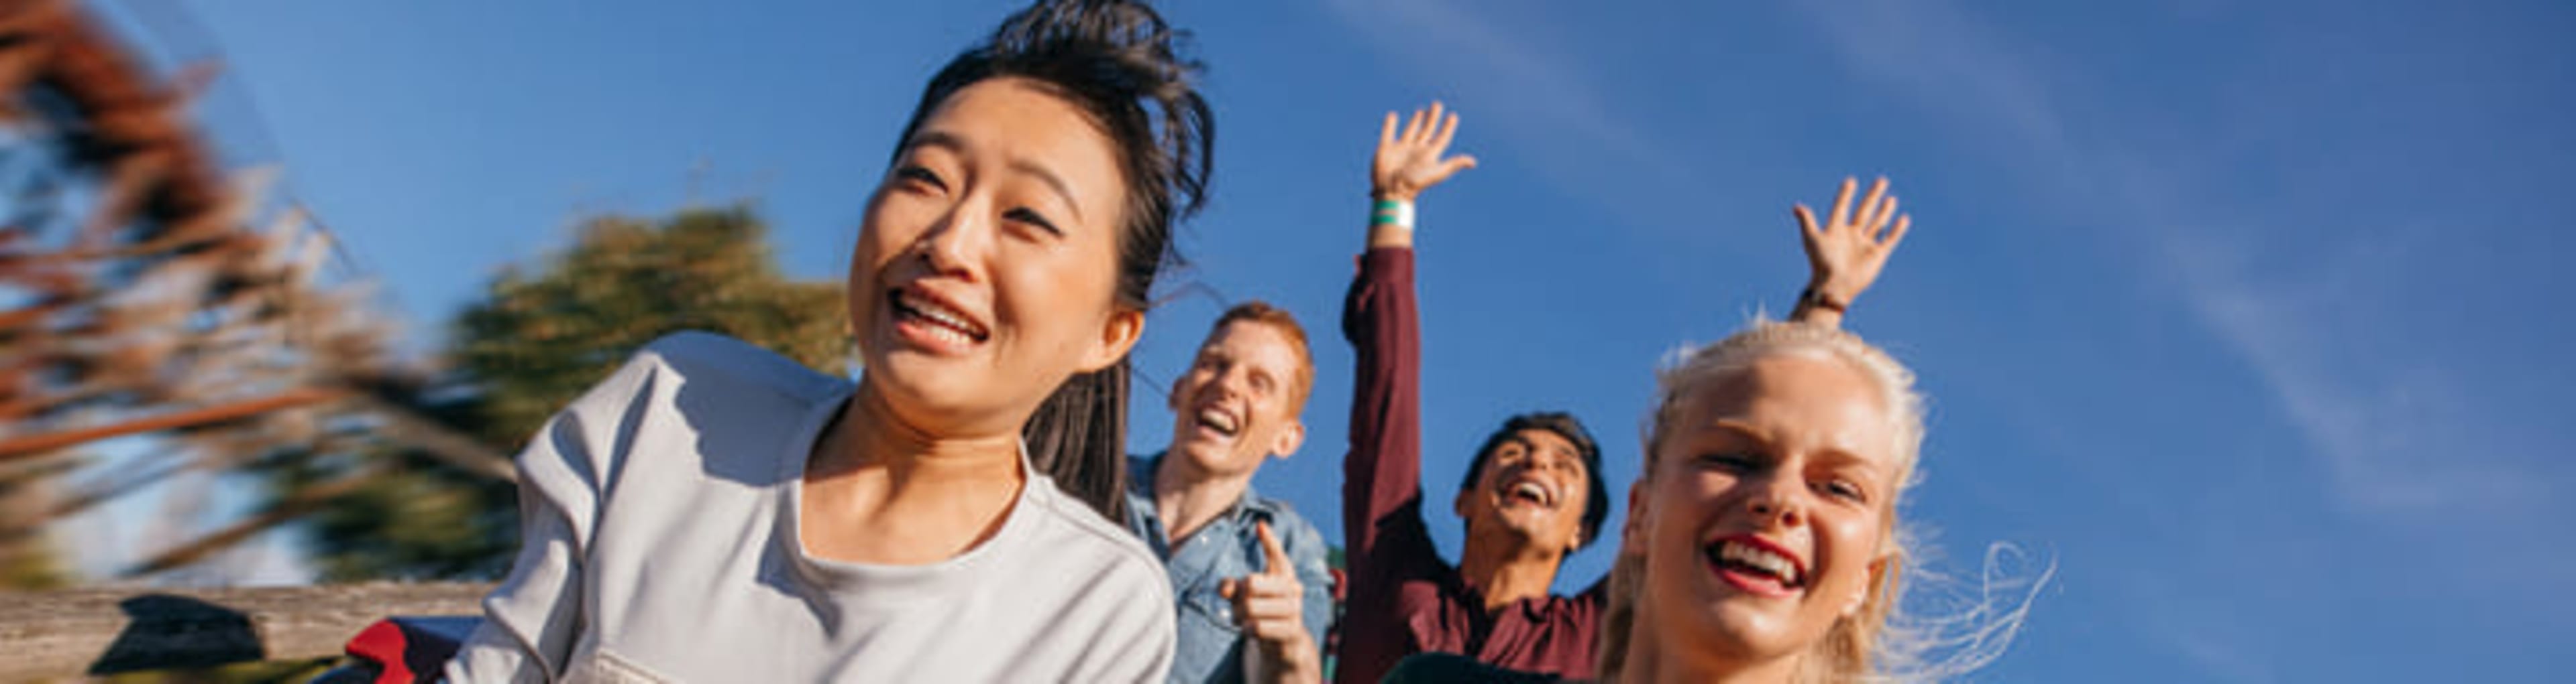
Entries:
[[[948,95],[981,80],[1023,77],[1074,103],[1108,131],[1128,188],[1113,306],[1144,311],[1154,275],[1180,262],[1172,226],[1206,203],[1216,162],[1216,118],[1193,85],[1203,64],[1182,57],[1185,41],[1144,3],[1038,0],[930,77],[894,154]],[[1126,522],[1126,404],[1121,357],[1064,381],[1020,429],[1030,465],[1118,522]]]

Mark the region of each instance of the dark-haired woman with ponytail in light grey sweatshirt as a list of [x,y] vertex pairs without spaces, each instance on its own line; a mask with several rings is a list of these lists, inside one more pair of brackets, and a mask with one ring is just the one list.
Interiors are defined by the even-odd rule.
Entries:
[[1208,183],[1180,33],[1041,0],[948,62],[850,257],[850,383],[675,334],[518,455],[453,681],[1159,681],[1128,350]]

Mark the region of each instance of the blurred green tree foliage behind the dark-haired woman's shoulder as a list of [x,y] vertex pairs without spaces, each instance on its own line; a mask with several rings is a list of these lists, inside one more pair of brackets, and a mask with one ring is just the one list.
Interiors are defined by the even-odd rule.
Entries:
[[[850,339],[840,283],[788,280],[768,229],[744,206],[662,221],[600,216],[536,267],[510,267],[456,316],[446,360],[456,388],[422,411],[515,453],[554,411],[647,342],[706,329],[840,373]],[[510,483],[471,476],[399,445],[368,458],[397,468],[309,519],[330,581],[497,576],[518,550]],[[319,458],[281,468],[309,486]]]

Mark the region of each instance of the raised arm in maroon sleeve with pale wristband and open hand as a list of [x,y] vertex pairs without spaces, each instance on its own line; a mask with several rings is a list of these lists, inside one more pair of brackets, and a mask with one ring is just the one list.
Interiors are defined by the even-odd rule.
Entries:
[[[1342,301],[1342,337],[1358,357],[1350,453],[1342,458],[1347,602],[1337,681],[1378,681],[1404,658],[1396,586],[1440,568],[1422,527],[1422,316],[1414,309],[1412,201],[1473,167],[1448,157],[1458,116],[1417,111],[1401,129],[1386,116],[1370,167],[1368,252]],[[1435,126],[1437,123],[1437,126]]]

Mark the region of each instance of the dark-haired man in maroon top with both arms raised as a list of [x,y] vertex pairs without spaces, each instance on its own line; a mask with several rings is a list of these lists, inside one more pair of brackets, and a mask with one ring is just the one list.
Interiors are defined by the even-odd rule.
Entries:
[[[1370,167],[1376,213],[1360,275],[1342,301],[1342,334],[1358,352],[1350,401],[1350,455],[1342,460],[1342,543],[1347,602],[1334,681],[1378,681],[1404,656],[1458,653],[1484,663],[1589,679],[1605,609],[1605,584],[1574,597],[1548,594],[1556,568],[1592,543],[1607,512],[1600,447],[1569,414],[1504,422],[1468,465],[1450,507],[1466,519],[1466,548],[1450,566],[1422,519],[1422,345],[1414,311],[1412,201],[1476,165],[1445,157],[1458,116],[1440,103],[1396,129],[1386,116]],[[1906,224],[1868,234],[1844,226],[1855,183],[1844,180],[1834,219],[1798,219],[1811,285],[1793,321],[1839,324],[1860,291],[1878,280]],[[1862,208],[1886,203],[1886,180]]]

